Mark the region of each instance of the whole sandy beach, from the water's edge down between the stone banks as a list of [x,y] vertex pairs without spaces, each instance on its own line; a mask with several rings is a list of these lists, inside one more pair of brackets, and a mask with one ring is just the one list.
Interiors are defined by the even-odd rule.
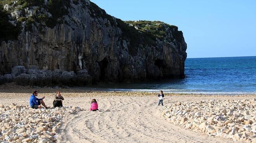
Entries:
[[[57,89],[1,86],[0,104],[28,105],[33,90],[52,106],[52,96]],[[201,135],[199,131],[186,130],[161,118],[163,106],[157,106],[157,93],[92,92],[78,89],[62,91],[64,106],[85,109],[70,114],[61,121],[57,142],[233,142],[225,138]],[[100,112],[89,110],[91,99],[97,99]],[[164,105],[178,101],[209,99],[253,99],[256,95],[216,96],[195,94],[166,94]]]

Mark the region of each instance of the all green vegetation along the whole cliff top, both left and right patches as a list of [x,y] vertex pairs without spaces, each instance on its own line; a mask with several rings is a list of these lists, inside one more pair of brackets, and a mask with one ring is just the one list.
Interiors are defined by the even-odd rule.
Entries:
[[[3,31],[5,40],[15,39],[15,37],[17,37],[17,32],[20,30],[20,27],[18,26],[21,22],[26,23],[26,31],[31,31],[33,27],[32,25],[35,25],[40,32],[42,32],[42,29],[45,26],[53,28],[56,24],[63,23],[64,20],[60,18],[68,14],[67,8],[70,6],[69,2],[69,0],[48,0],[47,3],[45,3],[44,0],[17,0],[16,2],[14,2],[14,0],[2,0],[0,2],[0,4],[2,4],[1,29],[5,30],[5,32]],[[105,10],[98,7],[93,2],[86,3],[82,0],[73,0],[73,3],[75,5],[81,3],[84,8],[87,7],[90,11],[90,16],[93,18],[107,19],[109,22],[106,22],[106,27],[119,27],[122,31],[121,38],[124,40],[128,39],[130,41],[129,46],[134,47],[135,49],[140,45],[156,45],[157,39],[171,42],[173,38],[168,37],[168,35],[170,35],[169,32],[171,29],[177,29],[174,25],[168,25],[160,21],[122,21],[121,19],[116,19],[107,14]],[[3,5],[5,4],[11,5],[8,12],[3,10]],[[28,13],[25,13],[28,8],[33,11],[32,15],[29,17],[26,15]],[[17,10],[21,12],[21,17],[16,20],[19,24],[14,27],[10,24],[10,17],[8,19],[8,15]],[[50,15],[42,12],[43,10],[46,10]],[[180,33],[175,33],[173,35],[177,35],[178,39],[180,37]],[[1,37],[1,39],[3,39],[3,37]]]

